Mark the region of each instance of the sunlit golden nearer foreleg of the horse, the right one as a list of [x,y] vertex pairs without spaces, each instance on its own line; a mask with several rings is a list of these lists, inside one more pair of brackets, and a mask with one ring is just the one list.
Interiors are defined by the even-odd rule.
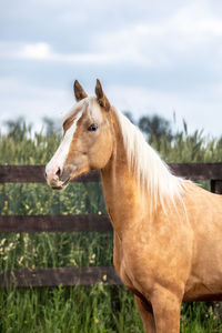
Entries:
[[158,287],[153,291],[151,304],[154,314],[157,333],[179,333],[181,295]]

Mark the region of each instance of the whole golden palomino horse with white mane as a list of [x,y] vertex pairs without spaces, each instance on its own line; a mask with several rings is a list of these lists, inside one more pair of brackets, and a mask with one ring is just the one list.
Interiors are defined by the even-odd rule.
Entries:
[[114,230],[114,266],[145,332],[178,333],[182,301],[222,299],[222,196],[174,176],[97,81],[74,82],[77,104],[47,164],[52,189],[101,170]]

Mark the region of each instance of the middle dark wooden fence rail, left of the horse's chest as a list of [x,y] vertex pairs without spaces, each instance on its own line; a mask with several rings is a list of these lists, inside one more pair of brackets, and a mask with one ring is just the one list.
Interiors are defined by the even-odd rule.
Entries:
[[0,232],[110,232],[105,214],[0,215]]

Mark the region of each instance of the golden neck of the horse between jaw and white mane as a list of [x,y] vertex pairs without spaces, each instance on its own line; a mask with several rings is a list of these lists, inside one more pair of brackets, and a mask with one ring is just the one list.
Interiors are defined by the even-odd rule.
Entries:
[[[142,193],[138,181],[129,168],[121,129],[112,111],[114,144],[109,163],[101,170],[107,209],[113,229],[121,234],[137,221],[141,208]],[[147,198],[148,199],[148,198]]]

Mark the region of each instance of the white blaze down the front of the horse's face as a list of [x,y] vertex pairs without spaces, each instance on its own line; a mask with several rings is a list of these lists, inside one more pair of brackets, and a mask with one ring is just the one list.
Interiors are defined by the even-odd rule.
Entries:
[[73,134],[75,132],[77,129],[77,122],[78,120],[82,117],[82,112],[80,111],[77,114],[77,118],[73,121],[73,124],[69,128],[69,130],[65,132],[58,150],[56,151],[54,155],[52,157],[52,159],[49,161],[49,163],[46,167],[46,173],[48,175],[54,175],[58,171],[58,169],[60,169],[60,171],[62,172],[64,163],[67,161],[67,157],[70,150],[70,144],[72,142],[72,138]]

